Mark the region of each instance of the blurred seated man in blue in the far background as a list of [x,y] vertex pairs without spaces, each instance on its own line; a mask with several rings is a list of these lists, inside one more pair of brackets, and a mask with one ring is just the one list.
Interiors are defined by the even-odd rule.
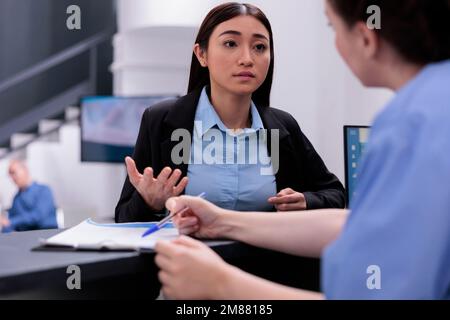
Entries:
[[8,217],[0,217],[3,233],[57,228],[56,208],[49,187],[33,182],[25,163],[12,160],[9,175],[19,188]]

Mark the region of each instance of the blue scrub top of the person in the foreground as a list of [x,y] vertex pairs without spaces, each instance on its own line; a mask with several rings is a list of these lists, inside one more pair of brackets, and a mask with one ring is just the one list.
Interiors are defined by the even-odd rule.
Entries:
[[323,257],[331,299],[450,299],[450,60],[377,117],[351,214]]

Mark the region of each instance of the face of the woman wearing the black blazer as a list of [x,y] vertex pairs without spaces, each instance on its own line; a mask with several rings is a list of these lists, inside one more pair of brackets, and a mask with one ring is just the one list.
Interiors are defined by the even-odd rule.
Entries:
[[212,90],[237,95],[255,92],[266,79],[270,65],[270,37],[252,16],[239,16],[219,24],[206,52],[196,50],[209,69]]

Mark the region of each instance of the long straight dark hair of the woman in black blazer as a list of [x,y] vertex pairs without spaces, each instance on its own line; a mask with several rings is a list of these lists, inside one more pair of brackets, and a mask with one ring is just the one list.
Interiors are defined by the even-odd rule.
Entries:
[[[195,43],[200,45],[203,50],[208,49],[209,38],[217,25],[238,16],[252,16],[260,21],[269,32],[270,37],[270,65],[267,77],[263,84],[253,93],[253,102],[260,107],[268,107],[270,105],[270,90],[272,88],[273,68],[274,68],[274,51],[273,51],[273,35],[272,27],[266,15],[257,7],[251,4],[242,4],[237,2],[228,2],[213,8],[198,31]],[[192,54],[191,71],[189,75],[188,93],[203,88],[210,84],[209,70],[200,65],[195,54]]]

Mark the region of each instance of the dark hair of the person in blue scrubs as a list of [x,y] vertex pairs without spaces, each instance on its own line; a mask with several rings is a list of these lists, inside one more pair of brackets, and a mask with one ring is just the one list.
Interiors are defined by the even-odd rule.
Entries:
[[381,9],[375,30],[407,61],[427,64],[450,59],[450,0],[328,0],[352,27],[366,22],[370,5]]

